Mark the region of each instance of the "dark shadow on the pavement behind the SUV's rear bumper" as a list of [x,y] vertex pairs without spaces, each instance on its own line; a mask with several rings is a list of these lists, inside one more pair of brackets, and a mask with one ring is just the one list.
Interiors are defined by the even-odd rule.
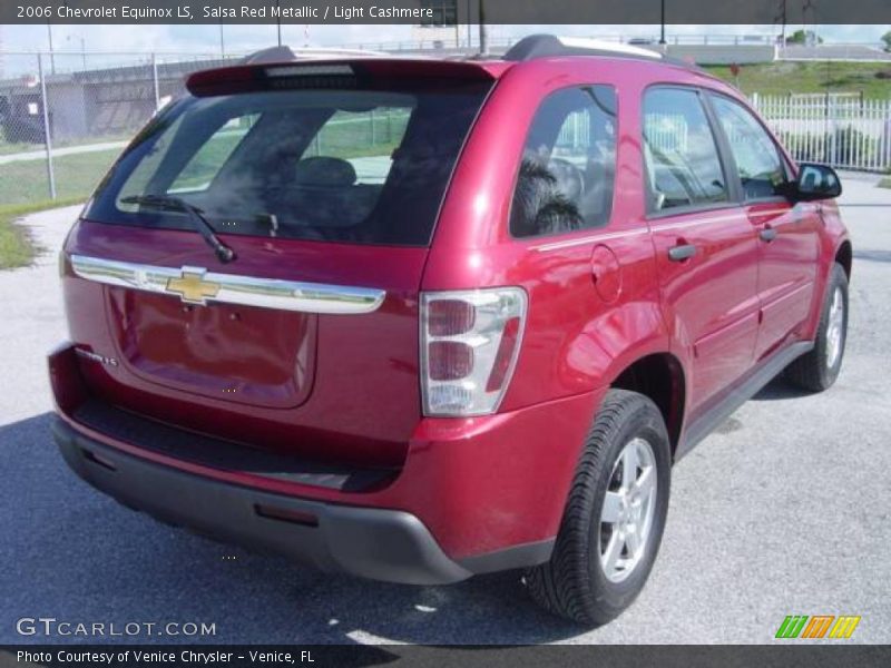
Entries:
[[159,524],[71,473],[49,425],[45,413],[0,426],[0,554],[13,564],[0,569],[0,642],[53,641],[14,630],[20,617],[50,612],[121,626],[215,625],[215,633],[203,637],[115,639],[141,642],[525,645],[584,630],[535,606],[519,572],[448,587],[389,584],[322,573]]

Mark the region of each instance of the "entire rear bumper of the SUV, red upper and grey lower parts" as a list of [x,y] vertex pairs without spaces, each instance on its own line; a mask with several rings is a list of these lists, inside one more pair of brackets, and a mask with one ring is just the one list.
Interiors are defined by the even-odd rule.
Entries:
[[483,418],[422,419],[402,468],[369,482],[361,470],[311,469],[285,461],[290,454],[261,461],[256,450],[229,452],[175,425],[146,428],[133,413],[88,415],[90,402],[102,400],[71,344],[50,355],[49,369],[56,439],[69,465],[100,491],[227,542],[419,584],[550,558],[599,402],[596,391]]

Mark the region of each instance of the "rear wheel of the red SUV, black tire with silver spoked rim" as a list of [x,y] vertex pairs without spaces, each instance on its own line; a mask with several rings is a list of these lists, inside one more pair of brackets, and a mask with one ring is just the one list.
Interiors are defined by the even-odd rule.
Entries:
[[[628,463],[629,449],[636,464]],[[636,392],[610,390],[586,439],[551,558],[526,572],[532,599],[587,627],[606,623],[630,606],[659,549],[670,465],[668,432],[656,404]],[[626,466],[634,468],[633,477],[626,478]],[[643,501],[645,472],[655,481],[648,502]],[[637,497],[628,491],[631,483],[640,483]],[[625,541],[617,558],[614,539]]]

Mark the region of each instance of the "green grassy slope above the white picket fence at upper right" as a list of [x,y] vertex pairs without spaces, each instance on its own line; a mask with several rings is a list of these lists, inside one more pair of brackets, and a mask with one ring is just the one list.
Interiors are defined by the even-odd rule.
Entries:
[[[705,69],[730,84],[735,84],[728,66]],[[740,89],[752,95],[789,95],[790,92],[860,92],[865,99],[891,97],[891,62],[776,62],[740,66]]]

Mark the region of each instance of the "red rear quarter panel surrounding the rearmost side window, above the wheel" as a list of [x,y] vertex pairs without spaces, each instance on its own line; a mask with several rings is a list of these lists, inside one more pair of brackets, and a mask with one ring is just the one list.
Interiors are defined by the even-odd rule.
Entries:
[[[422,289],[522,286],[529,316],[502,410],[587,392],[636,355],[666,352],[653,244],[642,210],[639,91],[646,69],[601,63],[516,66],[498,82],[456,171]],[[627,75],[627,72],[626,72]],[[617,165],[608,225],[512,238],[510,204],[527,130],[550,92],[590,84],[618,96]],[[509,119],[509,120],[506,120]]]

